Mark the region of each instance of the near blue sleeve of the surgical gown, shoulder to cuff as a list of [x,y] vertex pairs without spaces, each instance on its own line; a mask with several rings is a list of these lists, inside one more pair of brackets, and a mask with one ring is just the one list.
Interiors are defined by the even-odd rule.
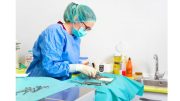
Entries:
[[69,63],[62,61],[62,52],[65,45],[61,29],[47,28],[42,33],[39,44],[42,54],[42,66],[51,77],[69,76]]

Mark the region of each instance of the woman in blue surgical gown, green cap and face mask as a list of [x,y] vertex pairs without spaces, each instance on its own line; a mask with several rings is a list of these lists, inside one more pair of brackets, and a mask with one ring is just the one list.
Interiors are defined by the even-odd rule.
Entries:
[[94,68],[79,61],[81,37],[94,26],[94,12],[86,5],[70,3],[64,12],[64,22],[48,26],[39,35],[33,47],[33,61],[26,71],[29,76],[65,80],[74,72],[96,75]]

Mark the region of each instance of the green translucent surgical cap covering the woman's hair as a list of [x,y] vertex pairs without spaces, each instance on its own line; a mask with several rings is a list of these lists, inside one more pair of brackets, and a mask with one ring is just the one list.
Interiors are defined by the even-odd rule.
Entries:
[[96,15],[86,5],[79,5],[76,3],[70,3],[64,12],[65,22],[96,22]]

